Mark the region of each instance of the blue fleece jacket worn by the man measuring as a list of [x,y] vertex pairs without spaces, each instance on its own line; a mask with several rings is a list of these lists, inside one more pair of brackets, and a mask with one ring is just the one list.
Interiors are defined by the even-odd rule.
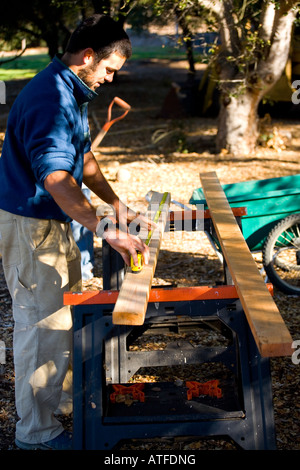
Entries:
[[95,96],[57,57],[16,98],[0,158],[0,208],[41,219],[71,219],[44,188],[47,175],[69,172],[82,184],[91,148],[87,104]]

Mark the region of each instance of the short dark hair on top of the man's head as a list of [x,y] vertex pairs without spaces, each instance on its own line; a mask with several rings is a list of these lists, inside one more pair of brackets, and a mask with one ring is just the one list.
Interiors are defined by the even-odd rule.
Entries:
[[65,52],[75,54],[89,47],[98,61],[107,59],[114,52],[126,59],[132,54],[130,39],[124,29],[109,16],[100,14],[82,21],[72,33]]

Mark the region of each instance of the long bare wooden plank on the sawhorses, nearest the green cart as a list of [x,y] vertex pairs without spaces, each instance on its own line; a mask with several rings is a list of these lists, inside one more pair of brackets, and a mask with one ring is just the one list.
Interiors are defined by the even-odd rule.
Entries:
[[216,173],[204,173],[200,179],[223,255],[261,356],[290,356],[291,335],[257,269]]

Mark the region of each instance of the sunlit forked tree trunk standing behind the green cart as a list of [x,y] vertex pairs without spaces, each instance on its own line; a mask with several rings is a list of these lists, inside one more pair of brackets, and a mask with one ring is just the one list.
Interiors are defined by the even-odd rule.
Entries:
[[[240,24],[236,21],[233,12],[238,2],[198,1],[214,12],[220,25],[221,47],[217,69],[222,91],[217,148],[219,151],[226,149],[233,155],[250,155],[255,150],[258,137],[258,104],[281,77],[287,63],[298,2],[262,2],[255,51],[252,56],[246,56],[245,44],[251,49],[254,36],[250,34],[247,43],[248,30],[240,26],[242,21]],[[246,5],[247,2],[243,3]],[[239,13],[242,20],[245,12],[240,10]],[[248,58],[242,61],[241,67],[239,60],[244,55]]]

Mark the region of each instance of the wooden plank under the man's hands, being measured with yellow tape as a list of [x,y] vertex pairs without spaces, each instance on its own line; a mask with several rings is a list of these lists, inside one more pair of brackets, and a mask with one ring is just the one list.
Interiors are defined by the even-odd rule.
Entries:
[[[154,219],[162,197],[163,195],[160,193],[153,193],[147,210],[147,217],[149,219]],[[144,265],[142,271],[138,273],[131,272],[130,268],[127,269],[112,314],[112,320],[115,325],[143,325],[144,323],[158,253],[168,218],[170,201],[171,195],[168,193],[157,222],[157,228],[153,231],[149,244],[149,263]],[[146,240],[147,233],[140,236],[142,240]]]

